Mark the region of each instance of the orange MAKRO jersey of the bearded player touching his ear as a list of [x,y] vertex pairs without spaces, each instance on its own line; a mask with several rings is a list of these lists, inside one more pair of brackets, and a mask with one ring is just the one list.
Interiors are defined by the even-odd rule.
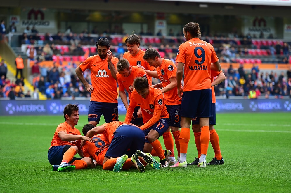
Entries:
[[[112,64],[116,68],[118,58],[112,57]],[[82,64],[81,70],[91,71],[91,82],[94,88],[91,100],[97,102],[117,103],[117,84],[112,77],[107,58],[101,59],[99,55],[90,56]]]

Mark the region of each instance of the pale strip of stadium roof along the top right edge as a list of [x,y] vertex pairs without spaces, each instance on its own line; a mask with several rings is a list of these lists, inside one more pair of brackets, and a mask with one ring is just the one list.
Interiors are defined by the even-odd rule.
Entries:
[[226,4],[267,5],[267,6],[291,6],[291,0],[160,0],[160,1],[183,1],[183,2],[197,2],[197,3],[226,3]]

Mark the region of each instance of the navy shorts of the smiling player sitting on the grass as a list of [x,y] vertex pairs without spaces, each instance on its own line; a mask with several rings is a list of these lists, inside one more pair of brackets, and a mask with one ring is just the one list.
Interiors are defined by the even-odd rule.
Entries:
[[[48,162],[51,165],[60,165],[63,160],[64,153],[70,148],[70,145],[63,146],[52,146],[48,149]],[[69,162],[73,163],[75,160],[81,160],[81,157],[73,157],[73,159]]]

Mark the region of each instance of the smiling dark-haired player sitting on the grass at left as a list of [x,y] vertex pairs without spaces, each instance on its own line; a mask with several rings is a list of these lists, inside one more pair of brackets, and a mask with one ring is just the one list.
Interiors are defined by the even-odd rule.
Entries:
[[[83,156],[80,148],[81,140],[89,142],[94,142],[94,140],[82,136],[80,131],[75,128],[79,120],[79,107],[72,104],[66,105],[64,118],[65,122],[58,125],[48,149],[48,161],[52,165],[52,170],[70,171],[89,166],[95,167],[90,158]],[[83,158],[74,157],[77,153]]]

